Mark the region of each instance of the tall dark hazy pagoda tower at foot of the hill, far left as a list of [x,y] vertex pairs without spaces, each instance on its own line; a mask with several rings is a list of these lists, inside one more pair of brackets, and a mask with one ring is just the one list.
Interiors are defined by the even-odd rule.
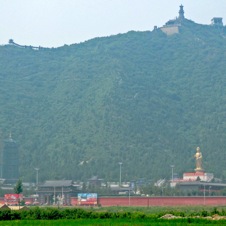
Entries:
[[11,134],[3,144],[2,177],[6,180],[6,183],[15,183],[19,179],[18,145],[12,139]]

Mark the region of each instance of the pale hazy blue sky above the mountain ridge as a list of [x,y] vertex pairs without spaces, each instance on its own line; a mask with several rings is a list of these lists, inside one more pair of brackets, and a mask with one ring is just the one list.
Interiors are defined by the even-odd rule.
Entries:
[[223,17],[226,0],[0,0],[0,45],[58,47],[95,37],[153,30],[178,16],[210,24]]

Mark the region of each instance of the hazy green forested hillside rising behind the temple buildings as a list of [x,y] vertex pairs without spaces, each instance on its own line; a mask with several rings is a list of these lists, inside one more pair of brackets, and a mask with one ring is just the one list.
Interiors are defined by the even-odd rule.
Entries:
[[186,20],[160,29],[32,50],[0,46],[1,140],[35,180],[226,176],[226,31]]

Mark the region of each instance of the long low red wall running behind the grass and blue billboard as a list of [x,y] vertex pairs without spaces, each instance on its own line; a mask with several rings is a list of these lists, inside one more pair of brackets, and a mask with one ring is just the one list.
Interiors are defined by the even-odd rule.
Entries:
[[[100,197],[101,206],[198,206],[198,205],[226,205],[226,197]],[[73,206],[77,198],[71,198]]]

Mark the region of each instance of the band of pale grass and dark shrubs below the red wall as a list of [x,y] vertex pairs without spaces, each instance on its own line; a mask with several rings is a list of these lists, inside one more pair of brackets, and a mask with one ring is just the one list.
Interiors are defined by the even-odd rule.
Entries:
[[[197,217],[225,217],[225,207],[110,207],[57,208],[33,207],[27,210],[1,210],[2,220],[59,220],[59,219],[172,219]],[[173,216],[173,217],[172,217]]]

